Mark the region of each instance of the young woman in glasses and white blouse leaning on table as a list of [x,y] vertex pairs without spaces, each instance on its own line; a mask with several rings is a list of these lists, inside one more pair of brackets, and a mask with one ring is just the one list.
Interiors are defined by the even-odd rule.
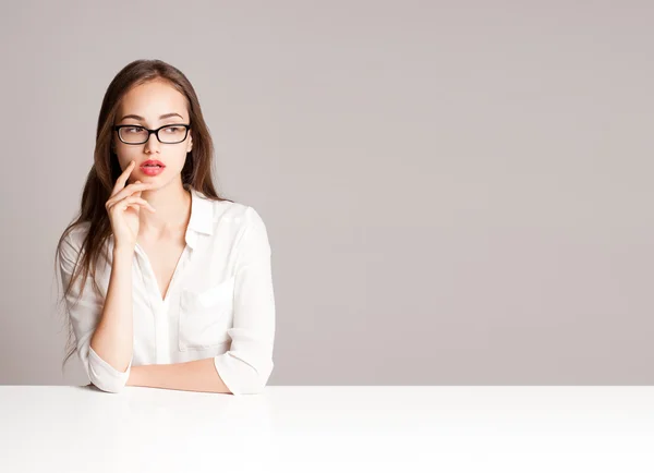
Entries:
[[76,350],[104,391],[257,393],[270,376],[266,227],[253,207],[218,196],[213,154],[178,69],[138,60],[109,84],[81,210],[56,255],[70,329],[63,363]]

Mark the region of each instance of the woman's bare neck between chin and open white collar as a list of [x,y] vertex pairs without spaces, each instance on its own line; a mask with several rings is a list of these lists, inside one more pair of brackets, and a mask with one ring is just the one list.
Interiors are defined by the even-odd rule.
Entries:
[[140,210],[141,237],[156,240],[185,231],[191,219],[192,197],[181,181],[161,189],[143,191],[141,197],[157,209],[154,214],[146,209]]

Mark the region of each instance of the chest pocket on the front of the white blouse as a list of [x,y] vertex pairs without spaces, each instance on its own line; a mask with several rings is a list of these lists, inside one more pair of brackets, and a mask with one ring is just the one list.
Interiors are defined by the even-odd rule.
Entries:
[[179,349],[198,350],[229,342],[233,323],[234,280],[196,292],[183,289],[180,296]]

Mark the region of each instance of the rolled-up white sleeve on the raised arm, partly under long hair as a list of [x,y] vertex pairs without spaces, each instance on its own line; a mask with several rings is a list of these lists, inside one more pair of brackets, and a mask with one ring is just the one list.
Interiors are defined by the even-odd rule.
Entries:
[[[80,253],[81,242],[76,240],[72,238],[72,233],[69,233],[62,241],[59,252],[59,269],[64,289],[72,279],[75,260]],[[84,291],[82,293],[83,286]],[[81,294],[82,296],[80,296]],[[82,281],[81,276],[77,277],[71,291],[65,296],[65,306],[76,339],[77,355],[89,381],[104,391],[119,392],[128,383],[132,362],[130,361],[124,373],[120,372],[90,348],[90,338],[100,320],[102,307],[105,306],[105,298],[93,288],[90,275],[87,276],[86,281]]]

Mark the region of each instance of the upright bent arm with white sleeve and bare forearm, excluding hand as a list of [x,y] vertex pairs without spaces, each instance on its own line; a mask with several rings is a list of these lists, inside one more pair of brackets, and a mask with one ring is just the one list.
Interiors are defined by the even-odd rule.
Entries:
[[[77,235],[78,237],[78,235]],[[73,270],[75,269],[75,260],[81,251],[81,238],[73,238],[72,234],[69,234],[62,243],[60,251],[60,272],[62,283],[64,288],[70,283]],[[107,304],[105,303],[105,298],[98,294],[93,287],[93,279],[90,275],[86,277],[86,280],[82,280],[78,277],[75,280],[74,286],[71,288],[70,293],[65,298],[66,310],[71,318],[71,324],[73,327],[73,332],[76,339],[76,349],[80,360],[82,361],[82,366],[88,376],[90,383],[97,386],[99,389],[108,392],[118,392],[122,389],[129,378],[129,372],[131,368],[131,350],[132,350],[132,306],[131,306],[131,292],[129,298],[123,298],[122,300],[118,299],[113,293],[118,293],[121,288],[128,283],[131,284],[131,281],[125,282],[124,274],[128,270],[124,267],[130,265],[128,277],[131,278],[131,259],[128,263],[126,257],[117,257],[114,254],[113,266],[111,270],[111,281],[110,283],[107,299],[113,300],[114,302],[111,304],[112,310],[106,310]],[[113,289],[111,289],[113,287]],[[124,293],[124,291],[123,291]],[[125,314],[124,317],[112,317],[114,314],[114,310],[120,305],[124,304],[124,300],[130,299],[130,307],[129,312],[125,311],[122,314]],[[118,301],[118,304],[117,304]],[[122,304],[121,304],[122,302]],[[129,324],[126,322],[129,315]],[[129,328],[124,328],[129,325]],[[92,347],[92,338],[94,338],[94,333],[96,331],[96,327],[102,326],[100,330],[100,337],[94,340],[94,344]],[[110,347],[108,341],[110,337],[107,333],[112,333],[117,330],[125,330],[129,331],[129,360],[125,361],[125,353],[122,352],[122,355],[111,356],[110,352],[107,350]],[[104,332],[104,335],[102,335]],[[123,337],[123,344],[126,337]],[[97,343],[99,341],[99,343]],[[97,345],[96,345],[97,343]],[[95,349],[99,350],[99,353],[95,351]],[[107,356],[107,357],[105,357]],[[125,367],[126,365],[126,367]],[[119,369],[120,368],[120,369]]]

